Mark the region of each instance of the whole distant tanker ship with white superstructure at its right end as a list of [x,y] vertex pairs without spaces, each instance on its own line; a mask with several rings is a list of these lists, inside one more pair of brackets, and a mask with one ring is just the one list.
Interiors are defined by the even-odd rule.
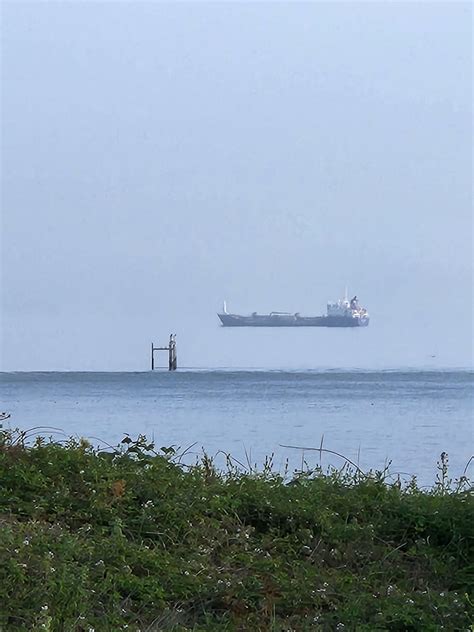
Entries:
[[270,312],[247,316],[230,314],[224,301],[222,312],[217,314],[223,327],[367,327],[369,313],[359,305],[357,296],[327,304],[324,316],[304,316],[299,312]]

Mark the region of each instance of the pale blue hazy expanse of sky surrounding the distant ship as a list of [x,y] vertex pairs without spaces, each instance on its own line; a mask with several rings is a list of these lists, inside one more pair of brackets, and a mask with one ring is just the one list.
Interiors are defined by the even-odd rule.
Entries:
[[470,3],[2,12],[4,370],[472,365]]

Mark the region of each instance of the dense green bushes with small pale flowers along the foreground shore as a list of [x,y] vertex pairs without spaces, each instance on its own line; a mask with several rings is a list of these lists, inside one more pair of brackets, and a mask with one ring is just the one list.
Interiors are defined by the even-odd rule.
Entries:
[[0,430],[0,630],[472,629],[472,499],[444,458],[430,492],[179,461]]

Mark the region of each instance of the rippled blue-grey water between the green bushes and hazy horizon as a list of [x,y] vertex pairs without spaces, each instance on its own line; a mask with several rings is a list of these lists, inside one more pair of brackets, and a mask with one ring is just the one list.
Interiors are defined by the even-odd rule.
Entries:
[[[260,465],[274,453],[277,469],[302,458],[281,444],[319,447],[324,435],[324,447],[364,469],[391,460],[391,471],[431,485],[441,451],[453,476],[473,451],[472,371],[3,373],[0,384],[12,426],[111,444],[142,433],[159,446],[196,442],[194,453],[223,450]],[[319,463],[319,453],[304,458]],[[323,455],[323,466],[342,463]]]

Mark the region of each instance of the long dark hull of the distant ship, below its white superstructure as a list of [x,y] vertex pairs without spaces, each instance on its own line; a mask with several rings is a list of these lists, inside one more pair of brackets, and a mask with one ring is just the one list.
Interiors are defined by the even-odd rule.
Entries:
[[369,317],[300,316],[299,314],[218,314],[224,327],[367,327]]

